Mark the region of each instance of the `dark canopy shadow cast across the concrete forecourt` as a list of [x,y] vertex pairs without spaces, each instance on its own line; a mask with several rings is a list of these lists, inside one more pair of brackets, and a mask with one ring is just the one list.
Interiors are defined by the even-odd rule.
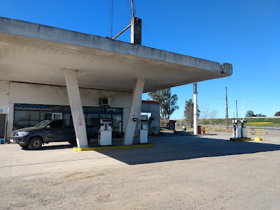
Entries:
[[149,139],[149,143],[154,143],[152,148],[97,150],[96,152],[128,165],[135,165],[280,150],[280,145],[278,144],[254,141],[226,141],[219,139],[218,136],[216,137],[216,139],[196,136],[159,137]]

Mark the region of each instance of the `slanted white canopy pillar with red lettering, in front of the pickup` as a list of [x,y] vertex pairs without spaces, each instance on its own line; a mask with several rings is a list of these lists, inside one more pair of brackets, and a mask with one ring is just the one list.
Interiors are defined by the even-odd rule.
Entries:
[[76,70],[65,69],[64,73],[78,148],[88,148],[84,111],[82,110]]

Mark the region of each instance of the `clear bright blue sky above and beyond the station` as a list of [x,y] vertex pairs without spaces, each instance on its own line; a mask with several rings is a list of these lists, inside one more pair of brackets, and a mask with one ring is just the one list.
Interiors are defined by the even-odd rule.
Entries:
[[[229,117],[247,110],[272,116],[280,110],[280,1],[135,0],[142,19],[142,45],[233,64],[229,78],[198,82],[198,106]],[[130,23],[130,0],[114,1],[113,34]],[[110,37],[110,0],[0,1],[0,16]],[[1,26],[0,26],[1,27]],[[129,31],[118,40],[130,42]],[[172,88],[183,116],[193,85]],[[143,100],[148,95],[143,94]],[[180,118],[180,109],[172,119]]]

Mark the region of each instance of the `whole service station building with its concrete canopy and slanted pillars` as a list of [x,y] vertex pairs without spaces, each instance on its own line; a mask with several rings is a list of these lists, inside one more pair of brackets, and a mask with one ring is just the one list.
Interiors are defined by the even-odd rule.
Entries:
[[[115,136],[123,137],[122,145],[132,145],[139,130],[139,143],[148,143],[147,122],[141,121],[142,93],[233,73],[228,63],[142,46],[141,20],[133,17],[130,27],[131,43],[125,43],[1,17],[5,141],[16,126],[62,119],[65,129],[74,128],[78,148],[89,148],[87,129],[95,124],[102,124],[99,145],[112,145]],[[159,123],[159,116],[152,117]]]

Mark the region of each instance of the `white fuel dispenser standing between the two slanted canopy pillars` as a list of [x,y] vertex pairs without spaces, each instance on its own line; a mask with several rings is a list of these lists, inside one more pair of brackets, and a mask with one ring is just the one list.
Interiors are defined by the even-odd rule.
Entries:
[[100,119],[100,130],[98,135],[99,145],[112,145],[112,121],[110,119]]

